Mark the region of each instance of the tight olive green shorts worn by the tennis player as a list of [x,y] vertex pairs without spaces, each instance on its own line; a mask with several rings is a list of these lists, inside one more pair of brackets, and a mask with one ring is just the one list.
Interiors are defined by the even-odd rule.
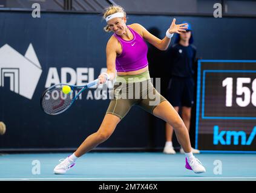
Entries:
[[124,118],[132,106],[139,106],[153,113],[157,105],[166,101],[154,88],[149,72],[139,75],[117,76],[114,89],[110,91],[111,102],[106,114]]

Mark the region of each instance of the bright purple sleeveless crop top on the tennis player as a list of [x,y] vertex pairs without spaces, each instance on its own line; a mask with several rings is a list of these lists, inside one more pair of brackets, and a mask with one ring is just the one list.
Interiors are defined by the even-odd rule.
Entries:
[[117,72],[130,72],[148,66],[148,46],[143,38],[136,33],[132,28],[128,27],[133,33],[133,39],[130,41],[123,40],[117,34],[114,36],[119,40],[122,45],[122,53],[116,57],[116,71]]

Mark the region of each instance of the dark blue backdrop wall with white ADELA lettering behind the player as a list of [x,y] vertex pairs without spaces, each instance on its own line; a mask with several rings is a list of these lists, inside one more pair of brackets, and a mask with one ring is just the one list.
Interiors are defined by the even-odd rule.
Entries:
[[[127,24],[158,28],[162,39],[172,18],[129,15]],[[197,57],[255,60],[256,19],[176,19],[192,25]],[[41,13],[41,18],[33,18],[30,12],[0,12],[0,121],[7,125],[7,132],[0,136],[0,150],[77,148],[97,131],[109,99],[95,96],[96,89],[82,93],[82,99],[57,116],[42,112],[40,97],[54,83],[87,83],[105,70],[105,46],[111,33],[105,33],[104,26],[100,14]],[[151,63],[159,62],[149,63],[151,77],[161,78],[165,61],[149,53]],[[163,78],[163,85],[166,81]],[[164,144],[164,122],[133,107],[99,147],[146,149]]]

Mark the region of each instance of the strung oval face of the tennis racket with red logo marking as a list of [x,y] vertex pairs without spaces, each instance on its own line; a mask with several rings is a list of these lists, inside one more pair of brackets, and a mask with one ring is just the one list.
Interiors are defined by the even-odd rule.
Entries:
[[62,92],[62,87],[48,90],[42,98],[42,107],[50,115],[57,115],[67,109],[73,102],[74,93],[71,90],[67,95]]

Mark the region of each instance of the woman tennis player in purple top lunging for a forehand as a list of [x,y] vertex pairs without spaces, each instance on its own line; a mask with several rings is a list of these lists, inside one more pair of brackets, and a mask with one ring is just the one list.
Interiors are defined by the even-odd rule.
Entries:
[[[54,168],[54,173],[64,174],[74,166],[77,158],[110,138],[117,124],[134,105],[172,125],[185,151],[185,167],[195,173],[205,172],[202,163],[192,154],[185,124],[171,104],[154,88],[148,71],[148,48],[145,41],[160,50],[166,50],[172,35],[185,32],[186,24],[177,25],[176,19],[173,19],[166,36],[161,40],[140,24],[126,25],[126,13],[122,7],[106,8],[103,17],[107,22],[104,30],[113,32],[113,36],[108,40],[106,48],[107,72],[100,74],[98,78],[100,84],[105,83],[107,79],[116,78],[113,98],[99,130],[88,136],[71,156],[59,163]],[[134,90],[136,87],[139,87],[139,92],[138,89]]]

